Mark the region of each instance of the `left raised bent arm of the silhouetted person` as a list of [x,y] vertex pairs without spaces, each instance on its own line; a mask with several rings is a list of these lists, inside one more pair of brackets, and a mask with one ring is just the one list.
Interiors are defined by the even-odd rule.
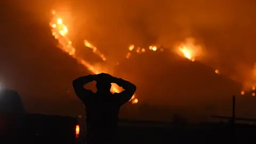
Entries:
[[94,76],[95,75],[82,76],[74,79],[73,81],[74,91],[77,97],[82,101],[86,100],[86,98],[93,94],[91,90],[84,89],[84,85],[94,81]]

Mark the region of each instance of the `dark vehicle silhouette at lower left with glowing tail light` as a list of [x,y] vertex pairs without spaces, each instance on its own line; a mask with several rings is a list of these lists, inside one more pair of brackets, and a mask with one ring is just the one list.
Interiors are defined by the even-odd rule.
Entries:
[[0,90],[0,143],[76,143],[75,117],[29,114],[18,92]]

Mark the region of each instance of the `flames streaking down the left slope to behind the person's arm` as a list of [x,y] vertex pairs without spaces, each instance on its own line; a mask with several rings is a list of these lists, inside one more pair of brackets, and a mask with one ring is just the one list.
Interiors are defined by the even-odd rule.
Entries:
[[[81,65],[83,65],[86,69],[90,70],[91,73],[93,74],[100,74],[100,73],[105,73],[105,71],[100,71],[99,69],[96,69],[93,67],[89,62],[85,61],[83,58],[78,57],[76,55],[76,49],[73,47],[72,42],[70,39],[67,37],[68,35],[68,28],[67,26],[63,23],[63,20],[58,17],[57,13],[55,11],[52,11],[52,21],[50,22],[50,26],[52,28],[52,35],[55,37],[55,39],[58,39],[59,44],[61,45],[59,48],[62,51],[67,52],[72,58],[76,59]],[[105,56],[97,50],[96,47],[92,46],[89,42],[84,41],[84,44],[86,47],[90,47],[94,53],[100,56],[102,60],[106,60]],[[118,87],[116,85],[113,85],[111,87],[112,92],[120,92]],[[135,99],[135,95],[130,100],[132,103],[138,103],[138,99]]]

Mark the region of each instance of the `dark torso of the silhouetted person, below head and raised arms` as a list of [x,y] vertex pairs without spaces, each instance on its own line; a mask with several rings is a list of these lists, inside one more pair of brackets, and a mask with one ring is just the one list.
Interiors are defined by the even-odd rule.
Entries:
[[86,111],[86,131],[89,139],[108,139],[115,134],[118,105],[115,95],[93,95],[90,101],[84,102]]

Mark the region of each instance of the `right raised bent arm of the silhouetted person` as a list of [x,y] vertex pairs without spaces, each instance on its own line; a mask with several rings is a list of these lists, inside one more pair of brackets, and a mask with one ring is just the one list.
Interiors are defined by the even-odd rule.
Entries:
[[117,93],[117,95],[119,96],[118,102],[120,105],[123,105],[124,103],[129,101],[132,98],[132,95],[136,91],[136,86],[134,84],[132,84],[129,81],[125,81],[122,78],[113,77],[112,82],[116,83],[118,86],[123,87],[124,89],[124,91]]

